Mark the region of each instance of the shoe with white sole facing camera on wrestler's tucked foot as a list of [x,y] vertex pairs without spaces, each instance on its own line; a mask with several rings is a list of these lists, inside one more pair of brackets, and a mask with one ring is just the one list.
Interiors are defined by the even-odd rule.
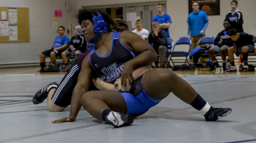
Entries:
[[117,112],[109,112],[106,116],[107,123],[114,127],[129,126],[133,123],[133,116],[131,114],[122,114]]

